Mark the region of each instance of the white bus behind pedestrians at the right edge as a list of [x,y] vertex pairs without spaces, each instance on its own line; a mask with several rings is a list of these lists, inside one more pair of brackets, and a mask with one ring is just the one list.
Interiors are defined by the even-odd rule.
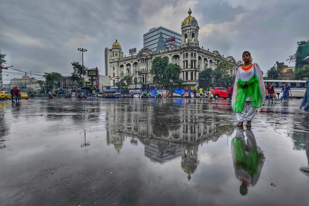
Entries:
[[268,82],[270,82],[273,85],[277,95],[280,94],[284,83],[285,82],[288,83],[291,89],[290,95],[292,95],[292,97],[296,99],[301,99],[304,97],[306,93],[307,83],[308,83],[308,81],[306,80],[271,80],[271,79],[268,79],[268,80],[264,80],[265,86],[268,85]]

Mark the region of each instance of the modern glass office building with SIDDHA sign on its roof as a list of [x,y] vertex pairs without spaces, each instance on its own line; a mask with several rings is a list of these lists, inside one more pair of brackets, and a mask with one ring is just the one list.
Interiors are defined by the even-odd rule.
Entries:
[[181,45],[181,34],[173,32],[164,27],[152,28],[144,36],[144,48],[149,48],[152,51],[167,48],[165,39],[175,37],[174,45]]

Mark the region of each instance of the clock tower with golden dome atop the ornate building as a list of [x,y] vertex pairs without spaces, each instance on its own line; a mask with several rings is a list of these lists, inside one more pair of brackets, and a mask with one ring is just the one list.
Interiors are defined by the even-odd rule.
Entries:
[[181,23],[181,44],[194,42],[198,46],[198,30],[200,27],[198,26],[197,20],[191,16],[191,9],[189,9],[188,14],[189,16]]

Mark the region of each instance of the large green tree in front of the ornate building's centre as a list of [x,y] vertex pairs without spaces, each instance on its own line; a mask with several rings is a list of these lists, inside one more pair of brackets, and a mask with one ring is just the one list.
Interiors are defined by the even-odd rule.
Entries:
[[154,75],[154,82],[157,83],[158,86],[163,86],[163,88],[169,87],[170,82],[176,81],[180,72],[180,66],[168,64],[166,58],[155,57],[152,61],[150,73]]

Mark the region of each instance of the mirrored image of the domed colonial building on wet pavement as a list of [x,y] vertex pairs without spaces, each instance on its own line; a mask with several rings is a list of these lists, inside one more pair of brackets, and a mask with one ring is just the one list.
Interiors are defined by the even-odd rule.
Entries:
[[[115,121],[116,119],[112,119]],[[208,122],[198,121],[194,116],[183,116],[177,119],[173,126],[157,126],[156,121],[139,121],[138,124],[127,124],[123,131],[116,129],[115,122],[108,127],[107,144],[113,144],[119,152],[126,137],[130,137],[131,145],[138,145],[138,141],[145,145],[145,157],[151,162],[164,164],[181,158],[180,167],[187,173],[188,180],[197,170],[198,146],[208,141],[217,141],[223,134],[231,135],[234,129],[229,124],[216,124],[216,120]]]

